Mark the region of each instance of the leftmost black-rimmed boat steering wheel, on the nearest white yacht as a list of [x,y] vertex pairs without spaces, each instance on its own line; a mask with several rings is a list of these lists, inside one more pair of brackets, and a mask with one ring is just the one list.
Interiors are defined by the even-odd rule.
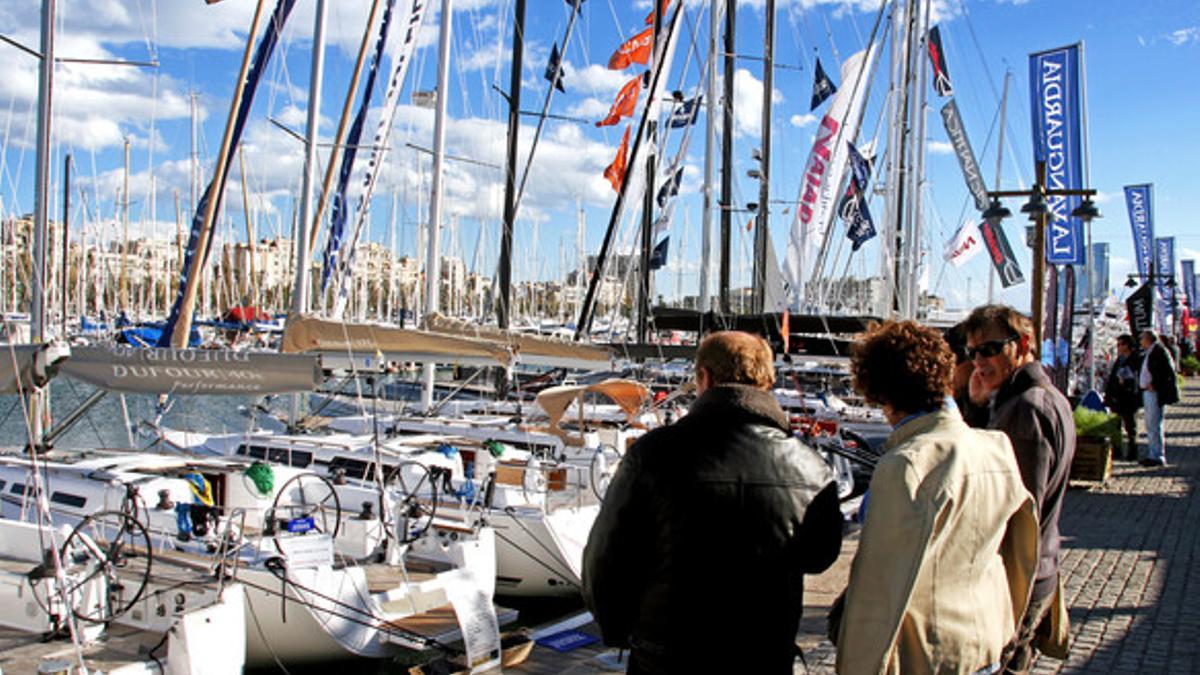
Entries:
[[[145,526],[127,513],[102,510],[80,520],[59,550],[71,614],[104,625],[128,611],[150,583],[152,551]],[[47,614],[61,597],[53,565],[48,561],[30,575],[34,599]]]

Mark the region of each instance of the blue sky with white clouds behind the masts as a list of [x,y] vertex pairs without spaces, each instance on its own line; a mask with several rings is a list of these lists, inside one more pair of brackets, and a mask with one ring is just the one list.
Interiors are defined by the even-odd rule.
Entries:
[[[242,190],[251,203],[256,237],[290,235],[304,155],[301,144],[281,126],[301,132],[308,104],[308,64],[312,52],[313,0],[299,0],[280,49],[254,101],[244,137],[246,177],[234,163],[226,197],[227,213],[218,237],[244,240]],[[320,96],[320,135],[329,142],[344,104],[349,73],[366,24],[367,0],[329,2],[326,71]],[[418,223],[426,216],[430,193],[428,155],[414,149],[432,144],[432,110],[412,103],[412,92],[436,88],[437,32],[440,2],[422,26],[396,123],[388,160],[371,210],[370,240],[394,245],[401,253],[418,251]],[[547,83],[541,73],[551,44],[562,40],[569,7],[560,0],[529,0],[526,28],[522,108],[540,109]],[[671,73],[671,89],[691,94],[700,86],[707,58],[709,2],[686,0],[680,24],[685,31]],[[757,181],[745,177],[751,149],[760,144],[763,0],[738,2],[734,78],[736,115],[734,202],[757,202]],[[37,49],[40,0],[0,4],[0,35]],[[268,0],[266,11],[274,6]],[[618,89],[637,66],[610,71],[606,62],[624,40],[641,30],[649,0],[586,0],[578,24],[564,49],[566,92],[556,95],[551,113],[578,121],[547,123],[516,229],[514,277],[558,279],[578,264],[577,223],[586,221],[583,253],[594,255],[607,225],[614,193],[604,179],[623,121],[595,127]],[[862,49],[876,20],[878,0],[778,0],[775,79],[772,124],[770,235],[784,258],[794,219],[804,163],[812,147],[823,108],[809,110],[812,66],[820,58],[838,79],[838,64]],[[220,148],[229,98],[246,46],[254,2],[224,0],[60,0],[56,53],[68,59],[156,61],[157,67],[60,64],[54,90],[54,193],[60,192],[62,156],[74,162],[73,228],[84,227],[91,240],[116,235],[119,195],[124,183],[125,143],[130,144],[130,220],[134,235],[157,238],[175,233],[175,198],[185,217],[192,205],[191,115],[194,95],[199,119],[198,163],[205,175]],[[1126,274],[1134,270],[1133,239],[1122,186],[1154,185],[1154,227],[1158,237],[1175,237],[1177,258],[1200,258],[1200,228],[1192,222],[1195,207],[1200,133],[1200,4],[1154,1],[1130,11],[1116,0],[934,0],[947,64],[967,135],[988,177],[996,166],[995,120],[1003,78],[1012,73],[1008,124],[1002,157],[1004,189],[1026,187],[1032,180],[1028,54],[1084,42],[1087,86],[1090,184],[1104,217],[1092,227],[1094,241],[1111,246],[1111,285],[1124,292]],[[487,275],[494,270],[503,204],[506,104],[511,64],[512,0],[456,0],[450,77],[446,162],[446,231],[443,250],[461,256],[468,267]],[[695,52],[691,49],[695,46]],[[877,71],[864,115],[859,145],[886,137],[887,49]],[[385,64],[388,65],[388,64]],[[34,207],[34,141],[37,100],[37,60],[7,43],[0,44],[0,216],[25,214]],[[385,77],[380,80],[385,82]],[[835,82],[841,84],[840,82]],[[367,132],[373,133],[384,88],[372,97]],[[355,103],[356,104],[356,103]],[[828,106],[828,103],[826,103]],[[940,98],[929,94],[926,127],[926,259],[930,289],[950,306],[970,307],[986,300],[988,262],[978,256],[961,268],[942,264],[944,243],[959,225],[978,214],[958,161],[941,127]],[[522,118],[521,157],[528,155],[535,119]],[[685,155],[679,203],[668,231],[667,267],[655,277],[658,294],[673,298],[697,293],[700,283],[701,189],[703,125],[701,114]],[[665,148],[673,156],[679,137]],[[882,141],[880,142],[882,145]],[[324,150],[328,153],[328,150]],[[361,155],[360,155],[361,156]],[[469,160],[469,161],[464,161]],[[361,169],[360,169],[361,171]],[[352,180],[358,190],[359,173]],[[353,198],[352,198],[353,203]],[[1018,211],[1020,202],[1009,207]],[[876,221],[882,202],[871,203]],[[58,217],[58,201],[53,213]],[[749,214],[734,216],[731,252],[733,283],[750,275]],[[740,222],[738,222],[740,221]],[[1004,228],[1026,276],[1030,255],[1024,221]],[[838,223],[838,233],[844,226]],[[77,229],[78,232],[78,229]],[[78,237],[78,234],[76,234]],[[620,250],[635,238],[632,226],[617,234]],[[841,239],[839,237],[839,239]],[[880,238],[839,268],[857,276],[878,270]],[[714,263],[715,276],[715,263]],[[715,281],[712,282],[715,286]],[[1028,285],[998,291],[1001,301],[1028,307]]]

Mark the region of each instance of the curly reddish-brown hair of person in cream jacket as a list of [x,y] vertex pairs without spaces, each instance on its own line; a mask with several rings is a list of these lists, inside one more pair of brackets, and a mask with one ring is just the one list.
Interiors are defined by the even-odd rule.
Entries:
[[872,325],[851,347],[854,389],[893,411],[937,410],[950,390],[954,354],[942,335],[913,321]]

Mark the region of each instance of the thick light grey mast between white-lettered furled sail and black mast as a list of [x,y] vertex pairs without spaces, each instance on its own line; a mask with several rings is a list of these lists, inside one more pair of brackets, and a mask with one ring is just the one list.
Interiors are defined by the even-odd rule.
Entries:
[[[438,31],[438,102],[433,117],[433,177],[430,179],[430,235],[425,253],[425,317],[438,312],[442,281],[442,167],[446,145],[446,103],[450,94],[450,30],[454,0],[442,0],[442,26]],[[422,410],[433,408],[433,364],[425,364],[425,386],[421,388]]]

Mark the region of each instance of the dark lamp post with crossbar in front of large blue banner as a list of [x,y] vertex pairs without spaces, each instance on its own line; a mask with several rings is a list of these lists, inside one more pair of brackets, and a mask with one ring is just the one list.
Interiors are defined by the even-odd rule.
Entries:
[[[1042,324],[1044,323],[1044,300],[1045,300],[1045,274],[1046,274],[1046,258],[1045,258],[1045,240],[1046,240],[1046,222],[1050,219],[1050,205],[1046,203],[1046,197],[1067,197],[1067,196],[1079,196],[1084,197],[1084,202],[1072,211],[1072,216],[1079,217],[1084,221],[1085,227],[1091,228],[1091,221],[1093,219],[1100,217],[1100,211],[1096,208],[1096,203],[1092,197],[1096,196],[1096,190],[1048,190],[1045,186],[1046,166],[1045,162],[1037,163],[1037,181],[1028,190],[989,190],[988,197],[991,198],[991,203],[983,211],[983,219],[991,223],[994,227],[1000,227],[1001,221],[1006,217],[1013,215],[1010,210],[1001,204],[1001,197],[1027,197],[1028,201],[1021,205],[1021,213],[1027,214],[1030,220],[1033,221],[1033,289],[1030,297],[1030,307],[1033,316],[1033,335],[1034,340],[1034,353],[1039,353],[1042,345]],[[1088,252],[1088,256],[1091,252]],[[1091,277],[1091,275],[1088,275]],[[1088,291],[1091,292],[1091,291]],[[1094,318],[1093,318],[1094,321]],[[1094,328],[1094,325],[1093,325]],[[1094,334],[1094,330],[1092,331]],[[1093,352],[1094,353],[1094,352]]]

